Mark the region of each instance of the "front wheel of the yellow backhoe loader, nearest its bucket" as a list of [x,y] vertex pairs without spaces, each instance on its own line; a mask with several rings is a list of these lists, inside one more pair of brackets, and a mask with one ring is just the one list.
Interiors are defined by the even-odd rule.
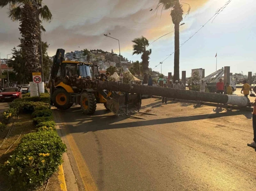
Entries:
[[94,93],[85,92],[81,94],[81,110],[84,114],[93,114],[96,111],[96,98]]

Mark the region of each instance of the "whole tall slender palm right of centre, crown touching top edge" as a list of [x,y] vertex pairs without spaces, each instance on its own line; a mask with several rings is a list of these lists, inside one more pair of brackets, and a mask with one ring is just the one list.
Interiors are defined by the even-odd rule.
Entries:
[[[187,3],[182,3],[179,0],[159,0],[155,9],[155,11],[157,11],[160,6],[163,6],[161,12],[163,10],[170,10],[171,12],[170,15],[174,24],[174,80],[179,80],[179,24],[183,20],[182,4]],[[190,12],[190,5],[187,5],[189,6],[187,11],[188,15]]]

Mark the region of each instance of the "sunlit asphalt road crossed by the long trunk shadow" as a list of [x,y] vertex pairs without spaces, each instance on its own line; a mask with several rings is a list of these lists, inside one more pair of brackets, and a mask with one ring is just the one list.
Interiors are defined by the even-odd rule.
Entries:
[[246,145],[253,136],[250,112],[155,98],[142,106],[158,116],[117,117],[103,104],[93,116],[78,106],[54,110],[98,190],[256,190],[256,152]]

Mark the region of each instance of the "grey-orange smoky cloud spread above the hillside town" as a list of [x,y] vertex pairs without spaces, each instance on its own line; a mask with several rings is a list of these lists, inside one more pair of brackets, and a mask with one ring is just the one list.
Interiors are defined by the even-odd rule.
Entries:
[[[186,0],[184,2],[190,4],[191,12],[195,12],[207,1]],[[131,52],[131,41],[134,38],[144,35],[153,41],[172,31],[172,21],[168,11],[164,11],[161,17],[159,12],[156,14],[149,11],[156,7],[157,2],[156,0],[76,0],[74,2],[44,0],[43,3],[50,8],[56,19],[43,24],[47,31],[42,39],[50,44],[49,55],[54,55],[57,48],[64,48],[67,52],[84,48],[117,51],[117,41],[103,36],[111,33],[110,36],[120,39],[121,51]],[[184,12],[187,7],[184,4]],[[19,44],[18,28],[15,32],[8,29],[10,25],[17,27],[17,23],[12,24],[6,12],[2,10],[0,17],[4,18],[1,19],[0,26],[6,27],[4,31],[0,29],[0,48],[3,48],[2,44],[8,44],[8,48],[17,46]],[[170,36],[166,38],[168,37],[170,38]]]

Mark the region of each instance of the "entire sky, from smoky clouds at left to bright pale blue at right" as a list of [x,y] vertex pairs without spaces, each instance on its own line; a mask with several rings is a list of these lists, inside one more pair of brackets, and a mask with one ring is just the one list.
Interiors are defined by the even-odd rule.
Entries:
[[[202,25],[225,5],[227,0],[182,0],[191,6],[188,17],[180,26],[180,43],[188,40]],[[54,19],[50,23],[43,22],[46,32],[42,40],[49,46],[48,55],[53,56],[57,48],[66,52],[74,50],[102,49],[119,53],[128,60],[139,60],[140,55],[132,55],[132,40],[140,36],[153,42],[162,35],[174,30],[170,12],[150,12],[157,6],[158,0],[43,0],[49,7]],[[161,7],[160,7],[161,8]],[[184,13],[188,6],[183,4]],[[180,76],[186,71],[190,76],[191,69],[204,68],[205,74],[211,74],[224,66],[230,66],[230,72],[248,74],[254,70],[256,44],[256,2],[232,0],[230,4],[215,18],[208,22],[199,32],[180,48]],[[19,22],[11,22],[8,8],[0,9],[0,53],[6,58],[14,46],[19,45]],[[155,41],[148,48],[152,49],[150,67],[154,68],[167,55],[174,52],[174,33],[170,33]],[[11,56],[11,55],[10,55]],[[8,56],[9,57],[9,56]],[[171,55],[163,64],[154,68],[167,75],[173,73]],[[254,66],[254,67],[253,67]]]

